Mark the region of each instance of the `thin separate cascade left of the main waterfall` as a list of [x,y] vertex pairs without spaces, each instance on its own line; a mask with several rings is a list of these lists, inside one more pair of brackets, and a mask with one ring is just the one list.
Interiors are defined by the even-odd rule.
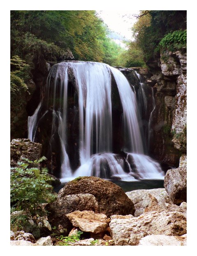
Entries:
[[35,134],[36,134],[36,125],[37,125],[37,118],[38,118],[38,113],[41,108],[41,102],[37,106],[36,110],[34,111],[33,115],[28,116],[28,121],[27,121],[27,127],[28,127],[28,138],[31,141],[34,141]]

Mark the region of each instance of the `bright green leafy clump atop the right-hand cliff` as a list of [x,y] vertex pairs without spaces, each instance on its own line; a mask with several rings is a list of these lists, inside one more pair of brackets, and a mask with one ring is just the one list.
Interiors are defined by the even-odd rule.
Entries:
[[187,45],[187,30],[176,30],[163,37],[159,43],[160,48],[175,51]]

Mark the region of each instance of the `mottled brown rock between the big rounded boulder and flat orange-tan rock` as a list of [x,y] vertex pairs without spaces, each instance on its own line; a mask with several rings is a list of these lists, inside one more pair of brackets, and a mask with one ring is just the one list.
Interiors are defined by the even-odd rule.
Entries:
[[98,202],[92,194],[74,194],[57,198],[46,205],[48,219],[52,226],[56,226],[60,233],[69,234],[72,225],[66,214],[76,210],[90,210],[99,212]]

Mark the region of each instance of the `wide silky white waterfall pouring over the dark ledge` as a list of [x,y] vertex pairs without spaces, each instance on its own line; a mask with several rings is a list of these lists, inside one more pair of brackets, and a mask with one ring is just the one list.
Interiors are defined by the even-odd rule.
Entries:
[[[69,84],[69,72],[75,85]],[[115,84],[112,85],[112,80]],[[68,90],[76,90],[75,109],[78,114],[78,141],[74,143],[79,152],[80,166],[71,170],[68,143]],[[119,154],[113,151],[113,105],[112,88],[117,88],[121,111],[120,134],[122,146]],[[143,92],[143,90],[142,90]],[[143,96],[144,97],[144,96]],[[144,98],[145,100],[145,98]],[[146,102],[144,102],[146,105]],[[135,180],[136,178],[163,178],[160,165],[144,155],[144,146],[139,127],[140,115],[136,95],[126,77],[116,68],[104,63],[69,61],[61,62],[50,69],[46,95],[39,109],[52,113],[50,142],[56,137],[60,144],[61,181],[78,176],[97,176],[107,179]],[[28,122],[29,137],[41,118],[36,110]],[[42,112],[42,111],[41,111]],[[71,129],[74,127],[71,127]],[[34,132],[35,134],[35,132]],[[35,136],[35,135],[34,135]],[[122,151],[122,153],[121,153]],[[123,152],[124,151],[124,152]],[[128,152],[128,153],[126,153]]]

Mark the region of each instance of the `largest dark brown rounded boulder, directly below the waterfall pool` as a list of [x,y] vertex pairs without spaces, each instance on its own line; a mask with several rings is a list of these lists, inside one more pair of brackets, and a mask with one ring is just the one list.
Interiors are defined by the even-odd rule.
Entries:
[[78,193],[94,195],[98,202],[99,212],[108,217],[114,214],[134,215],[133,202],[126,196],[121,187],[108,180],[97,177],[76,178],[60,189],[58,198]]

